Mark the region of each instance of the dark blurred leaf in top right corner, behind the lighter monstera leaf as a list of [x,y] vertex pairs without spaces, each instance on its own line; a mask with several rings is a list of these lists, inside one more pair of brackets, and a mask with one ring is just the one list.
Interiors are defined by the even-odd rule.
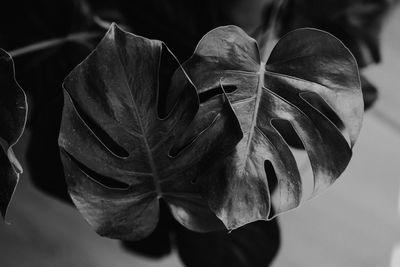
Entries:
[[[380,33],[398,0],[287,0],[278,20],[278,35],[315,27],[338,37],[355,56],[360,68],[381,61]],[[270,9],[270,8],[269,8]],[[265,16],[267,25],[268,16]],[[376,88],[362,77],[365,110],[378,97]]]

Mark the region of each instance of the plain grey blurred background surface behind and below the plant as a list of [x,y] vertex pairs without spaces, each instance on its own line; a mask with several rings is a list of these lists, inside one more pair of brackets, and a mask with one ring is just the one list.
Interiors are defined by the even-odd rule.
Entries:
[[[365,115],[353,158],[329,190],[278,218],[280,249],[271,266],[400,266],[399,29],[400,9],[393,7],[381,32],[381,62],[363,68],[364,76],[379,89],[379,99]],[[18,64],[22,63],[16,62],[17,73]],[[50,101],[49,106],[51,103],[59,101]],[[33,109],[39,115],[32,121],[49,112],[37,106]],[[35,154],[29,152],[30,142],[40,132],[34,130],[31,122],[16,154],[23,166],[36,157],[35,166],[41,164],[41,171],[46,166],[45,175],[51,181],[57,170],[53,170],[54,163],[46,161],[51,157],[45,153],[47,148],[40,155],[30,155]],[[41,149],[38,140],[36,151]],[[59,200],[64,196],[44,193],[52,188],[39,191],[32,183],[31,171],[35,168],[25,169],[20,179],[8,223],[0,223],[0,266],[183,266],[174,248],[171,254],[151,259],[126,250],[119,241],[99,237],[74,207]],[[311,170],[307,172],[311,175]]]

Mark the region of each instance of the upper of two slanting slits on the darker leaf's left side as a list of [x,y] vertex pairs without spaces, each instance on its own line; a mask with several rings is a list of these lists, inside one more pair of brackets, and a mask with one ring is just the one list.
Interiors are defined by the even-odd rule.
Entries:
[[101,126],[91,116],[89,116],[77,103],[75,103],[72,97],[71,101],[79,117],[112,153],[120,158],[126,158],[129,156],[128,151],[115,142],[114,139],[111,138],[111,136],[105,130],[103,130],[103,128],[101,128]]

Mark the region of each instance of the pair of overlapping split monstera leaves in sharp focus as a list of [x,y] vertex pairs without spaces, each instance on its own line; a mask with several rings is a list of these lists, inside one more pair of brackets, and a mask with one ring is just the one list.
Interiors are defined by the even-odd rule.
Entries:
[[[263,63],[240,28],[212,30],[183,65],[200,106],[180,67],[172,78],[158,75],[168,71],[165,53],[161,42],[114,25],[65,80],[59,144],[69,192],[100,234],[148,235],[161,197],[198,231],[220,227],[208,205],[228,229],[270,219],[271,203],[277,214],[298,206],[300,174],[274,121],[289,121],[301,138],[314,195],[347,166],[363,102],[357,64],[335,37],[294,31]],[[350,144],[310,94],[337,114]],[[278,182],[272,197],[268,162]]]

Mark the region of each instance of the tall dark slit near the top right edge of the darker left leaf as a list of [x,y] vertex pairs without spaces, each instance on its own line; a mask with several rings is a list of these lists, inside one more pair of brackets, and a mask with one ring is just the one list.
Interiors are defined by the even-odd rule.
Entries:
[[[163,43],[160,63],[158,68],[158,116],[165,118],[170,110],[169,102],[175,103],[176,99],[167,101],[170,92],[172,77],[176,70],[180,68],[178,60],[169,51],[168,47]],[[175,92],[174,92],[175,93]],[[176,95],[179,95],[177,93]]]

